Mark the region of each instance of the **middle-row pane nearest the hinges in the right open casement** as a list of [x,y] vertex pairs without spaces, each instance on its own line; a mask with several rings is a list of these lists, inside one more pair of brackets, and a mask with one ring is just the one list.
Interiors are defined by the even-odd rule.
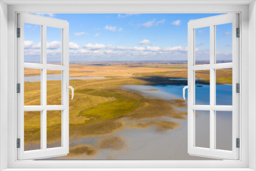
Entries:
[[216,105],[232,105],[232,69],[216,70]]

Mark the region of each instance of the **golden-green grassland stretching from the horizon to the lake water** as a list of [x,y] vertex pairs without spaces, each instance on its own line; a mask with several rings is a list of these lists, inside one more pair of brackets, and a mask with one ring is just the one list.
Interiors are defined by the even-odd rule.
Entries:
[[[25,69],[25,76],[40,76],[40,70]],[[232,70],[217,70],[217,83],[232,82]],[[59,75],[59,71],[47,74]],[[209,73],[196,72],[196,76],[209,81]],[[186,108],[183,99],[171,101],[147,98],[137,92],[122,90],[127,84],[155,84],[157,80],[168,78],[187,78],[186,65],[127,65],[92,66],[84,64],[70,65],[70,77],[106,77],[106,79],[74,79],[70,85],[75,89],[74,99],[70,99],[70,138],[111,135],[123,130],[125,123],[120,118],[148,119],[170,117],[186,119],[187,112],[177,112],[177,108]],[[25,82],[25,105],[40,105],[40,81]],[[150,89],[148,91],[156,91]],[[70,92],[71,97],[71,92]],[[47,81],[47,105],[61,104],[61,81]],[[61,140],[61,111],[47,111],[47,142],[49,147],[56,146]],[[40,112],[25,112],[25,146],[40,143]],[[175,129],[178,122],[148,121],[138,122],[134,127],[146,129],[157,126],[159,130]],[[120,144],[116,138],[109,140]],[[104,144],[104,141],[98,144]],[[102,146],[102,145],[99,145]],[[94,155],[97,150],[90,145],[70,149],[71,155]]]

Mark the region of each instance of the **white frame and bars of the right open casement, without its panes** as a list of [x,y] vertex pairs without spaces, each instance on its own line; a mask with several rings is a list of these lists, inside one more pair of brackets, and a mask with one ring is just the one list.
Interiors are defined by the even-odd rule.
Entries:
[[[232,62],[216,63],[216,26],[232,23]],[[209,64],[196,65],[195,40],[196,29],[209,27],[210,55]],[[236,29],[239,28],[239,14],[230,13],[212,17],[190,20],[188,23],[188,153],[194,156],[239,159],[239,148],[236,138],[239,138],[239,94],[236,93],[236,83],[239,83],[239,38]],[[232,105],[216,105],[216,69],[232,69]],[[196,105],[196,71],[209,70],[210,91],[209,105]],[[209,148],[196,146],[196,110],[209,111]],[[231,151],[216,148],[216,111],[232,112],[232,147]]]

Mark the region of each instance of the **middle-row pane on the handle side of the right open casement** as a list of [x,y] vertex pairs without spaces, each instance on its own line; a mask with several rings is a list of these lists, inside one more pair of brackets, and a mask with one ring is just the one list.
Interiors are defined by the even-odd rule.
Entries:
[[196,105],[210,104],[210,70],[195,71],[196,87]]

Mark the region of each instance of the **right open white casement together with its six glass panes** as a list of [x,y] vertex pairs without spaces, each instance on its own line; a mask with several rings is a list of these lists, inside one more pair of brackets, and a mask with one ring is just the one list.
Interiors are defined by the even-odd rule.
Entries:
[[[188,153],[190,155],[239,159],[239,148],[236,145],[239,138],[239,93],[236,90],[236,84],[239,83],[239,36],[236,34],[239,29],[238,19],[238,14],[224,14],[191,20],[188,23]],[[229,25],[230,31],[225,32],[224,35],[231,35],[229,39],[232,42],[229,45],[232,46],[232,54],[226,60],[221,59],[220,52],[222,49],[220,44],[224,46],[219,36],[223,25]],[[205,62],[198,65],[199,60],[195,53],[196,42],[198,33],[206,27],[209,30],[209,34],[205,36],[209,36],[210,51],[208,56],[204,56]],[[225,40],[228,41],[227,39]],[[225,91],[219,91],[223,83],[232,86],[227,86]],[[200,96],[200,89],[206,84],[209,84],[209,90]],[[219,98],[220,94],[228,96],[230,92],[229,98],[225,100]],[[196,115],[207,119],[200,122]],[[227,137],[229,139],[226,139]],[[202,143],[202,141],[206,142]],[[223,145],[228,142],[229,144]]]

